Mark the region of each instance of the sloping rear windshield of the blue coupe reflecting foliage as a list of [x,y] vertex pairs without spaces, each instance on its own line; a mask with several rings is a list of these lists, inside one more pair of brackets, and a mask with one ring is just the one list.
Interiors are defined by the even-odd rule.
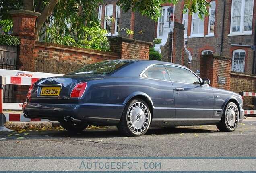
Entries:
[[69,74],[109,74],[130,62],[134,62],[134,61],[131,61],[131,60],[101,61],[101,62],[89,64],[87,66],[79,68],[78,70],[70,72]]

